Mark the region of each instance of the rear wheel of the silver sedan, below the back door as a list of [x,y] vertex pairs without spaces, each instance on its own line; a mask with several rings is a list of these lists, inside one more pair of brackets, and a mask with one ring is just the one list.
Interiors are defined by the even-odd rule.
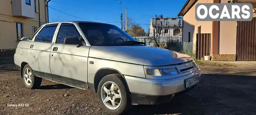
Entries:
[[42,78],[36,77],[33,70],[28,64],[24,66],[22,71],[22,80],[27,88],[33,89],[40,87],[42,83]]

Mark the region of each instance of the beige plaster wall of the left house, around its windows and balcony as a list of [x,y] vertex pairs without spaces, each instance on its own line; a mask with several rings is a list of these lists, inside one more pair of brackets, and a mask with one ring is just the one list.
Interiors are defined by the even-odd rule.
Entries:
[[[31,4],[32,1],[33,0],[31,0]],[[44,13],[44,4],[46,4],[44,2],[44,0],[40,0],[41,25],[48,21],[48,11],[46,11],[46,14]],[[38,0],[36,0],[36,3],[38,3]],[[38,11],[38,4],[36,8]],[[13,17],[11,0],[0,0],[0,49],[14,49],[17,47],[16,22],[22,23],[23,37],[32,36],[32,27],[39,28],[38,13],[35,11],[34,13],[35,19]]]

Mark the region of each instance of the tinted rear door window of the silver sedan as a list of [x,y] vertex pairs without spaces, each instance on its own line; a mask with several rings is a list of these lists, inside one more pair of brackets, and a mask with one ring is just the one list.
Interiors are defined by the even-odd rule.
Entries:
[[51,43],[57,26],[58,24],[45,25],[44,28],[37,34],[35,41]]

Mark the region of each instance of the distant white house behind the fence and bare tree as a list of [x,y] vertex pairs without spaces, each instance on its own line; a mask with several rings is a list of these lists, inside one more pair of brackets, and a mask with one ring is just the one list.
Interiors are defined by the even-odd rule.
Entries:
[[[179,21],[181,21],[180,26],[179,26]],[[160,25],[161,27],[159,27]],[[154,29],[156,33],[156,28],[154,27],[159,27],[162,29],[161,31],[159,31],[159,33],[161,32],[162,34],[161,36],[177,35],[180,32],[182,32],[182,20],[180,18],[168,18],[168,17],[160,20],[156,20],[156,18],[151,18],[149,36],[154,36]]]

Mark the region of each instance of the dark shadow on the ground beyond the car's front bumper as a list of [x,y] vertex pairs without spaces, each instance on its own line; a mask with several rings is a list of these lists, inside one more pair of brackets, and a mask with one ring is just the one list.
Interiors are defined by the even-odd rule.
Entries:
[[192,90],[170,102],[133,105],[128,115],[216,115],[255,113],[256,76],[202,74]]

